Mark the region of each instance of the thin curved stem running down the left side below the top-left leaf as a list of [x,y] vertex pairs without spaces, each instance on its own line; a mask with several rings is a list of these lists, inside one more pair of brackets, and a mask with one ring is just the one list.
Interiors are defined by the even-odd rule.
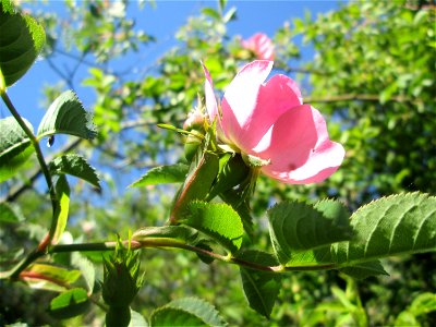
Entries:
[[[50,230],[48,233],[48,237],[46,237],[38,247],[28,255],[28,257],[22,263],[22,265],[19,266],[19,268],[14,271],[13,276],[16,277],[23,269],[27,267],[28,264],[27,262],[32,263],[34,259],[36,259],[35,256],[38,256],[39,253],[44,253],[46,251],[46,247],[51,241],[52,235],[55,234],[56,227],[58,225],[58,217],[56,215],[56,211],[58,209],[58,196],[55,191],[53,182],[51,180],[51,174],[50,171],[48,170],[47,164],[44,159],[43,152],[39,147],[39,142],[37,137],[34,135],[34,133],[31,131],[31,129],[26,125],[22,117],[20,116],[19,111],[15,109],[13,106],[11,99],[9,98],[8,94],[5,92],[1,92],[1,98],[3,99],[4,104],[7,105],[9,111],[12,113],[13,118],[16,120],[16,122],[20,124],[20,126],[23,129],[24,133],[26,133],[27,137],[31,140],[32,145],[35,148],[36,157],[38,159],[39,166],[41,168],[43,174],[46,179],[47,186],[48,186],[48,192],[50,194],[50,201],[51,201],[51,207],[53,210],[52,219],[51,219],[51,226]],[[35,257],[35,258],[34,258]]]

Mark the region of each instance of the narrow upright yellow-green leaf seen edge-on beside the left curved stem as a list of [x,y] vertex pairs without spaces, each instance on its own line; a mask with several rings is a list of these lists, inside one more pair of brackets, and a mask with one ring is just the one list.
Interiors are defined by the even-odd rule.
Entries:
[[70,186],[68,184],[66,178],[64,175],[60,175],[55,187],[56,194],[58,195],[58,206],[55,210],[55,216],[58,216],[58,223],[51,239],[51,244],[58,243],[61,239],[62,233],[66,227],[70,209]]

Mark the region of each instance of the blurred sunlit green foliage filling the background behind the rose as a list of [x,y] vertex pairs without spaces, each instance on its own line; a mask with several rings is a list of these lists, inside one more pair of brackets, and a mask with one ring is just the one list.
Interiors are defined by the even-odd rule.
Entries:
[[[181,137],[156,124],[182,125],[197,94],[203,94],[201,60],[214,76],[216,88],[222,89],[239,66],[254,59],[235,36],[228,35],[238,3],[232,8],[225,2],[190,17],[177,34],[177,47],[152,68],[138,64],[142,74],[116,69],[117,60],[138,49],[146,51],[144,46],[154,41],[147,31],[133,28],[134,21],[126,15],[126,8],[137,3],[81,1],[74,5],[65,1],[68,14],[63,17],[49,11],[33,12],[47,33],[44,60],[61,82],[45,87],[45,101],[50,104],[62,90],[78,85],[89,87],[95,95],[88,107],[98,126],[97,138],[57,136],[48,152],[55,156],[74,149],[102,174],[102,190],[72,183],[72,226],[64,234],[65,242],[106,240],[116,232],[126,235],[129,229],[167,220],[173,187],[124,187],[145,170],[173,164],[180,155],[174,145],[182,149]],[[142,10],[150,10],[147,5]],[[435,15],[433,2],[374,0],[283,22],[272,37],[275,68],[296,73],[305,86],[303,98],[327,118],[330,136],[344,145],[347,158],[327,182],[314,186],[262,179],[252,203],[258,216],[254,229],[258,246],[271,246],[264,233],[266,217],[261,215],[280,199],[315,202],[332,196],[355,209],[402,191],[435,193]],[[300,35],[304,44],[296,43]],[[315,49],[314,58],[300,60],[304,47]],[[65,58],[73,69],[63,65]],[[296,62],[299,69],[290,62]],[[84,68],[86,73],[80,73]],[[35,162],[33,156],[20,174],[1,184],[4,199],[23,217],[8,222],[2,209],[2,254],[33,249],[44,237],[41,226],[49,225],[51,208]],[[231,325],[392,325],[414,319],[432,326],[435,313],[423,311],[426,304],[422,303],[426,303],[425,294],[436,291],[435,258],[434,253],[393,258],[385,263],[390,277],[363,281],[337,272],[293,272],[282,278],[279,303],[267,320],[247,310],[235,267],[204,265],[190,253],[146,250],[142,252],[146,282],[133,307],[148,315],[173,299],[197,295],[218,307]],[[2,256],[2,265],[12,259]],[[89,254],[88,259],[101,263],[98,254]],[[55,261],[83,265],[74,255],[58,254]],[[45,311],[52,293],[11,288],[8,281],[1,281],[0,288],[1,324],[59,324]],[[87,315],[62,324],[101,324],[102,319],[98,307],[93,307]]]

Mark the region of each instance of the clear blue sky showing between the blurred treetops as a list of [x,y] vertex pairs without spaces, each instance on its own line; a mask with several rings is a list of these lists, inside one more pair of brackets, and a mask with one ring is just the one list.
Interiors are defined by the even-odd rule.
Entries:
[[[78,1],[77,1],[78,2]],[[134,2],[134,1],[133,1]],[[286,21],[293,17],[304,16],[305,11],[310,11],[314,17],[318,12],[326,12],[338,8],[340,1],[229,1],[227,9],[232,5],[238,8],[238,20],[229,24],[230,35],[241,35],[246,38],[256,32],[264,32],[267,35],[274,33],[283,25]],[[24,5],[27,5],[24,3]],[[157,41],[147,45],[142,49],[142,53],[128,57],[122,64],[129,68],[133,60],[141,59],[145,65],[149,65],[156,58],[166,50],[174,46],[174,34],[182,26],[189,16],[195,15],[203,7],[217,7],[217,1],[156,1],[154,7],[148,3],[143,10],[138,10],[135,3],[129,8],[129,15],[136,21],[137,27],[155,36]],[[35,9],[35,5],[31,7]],[[46,11],[56,11],[59,15],[65,14],[62,1],[48,1],[46,4],[38,4],[37,9]],[[303,53],[304,55],[304,53]],[[138,57],[140,56],[140,57]],[[130,60],[132,60],[130,62]],[[63,63],[62,63],[63,64]],[[69,62],[64,63],[69,65]],[[70,63],[72,64],[72,63]],[[117,63],[120,65],[120,63]],[[77,80],[86,74],[87,68],[84,68]],[[27,118],[34,128],[37,128],[45,108],[41,108],[43,85],[55,84],[59,76],[53,73],[47,62],[41,59],[31,69],[31,71],[8,93],[19,111]],[[78,81],[77,81],[78,82]],[[93,102],[92,95],[78,86],[75,92],[84,102],[85,107]],[[88,108],[92,109],[92,108]],[[4,104],[0,104],[0,118],[9,116]]]

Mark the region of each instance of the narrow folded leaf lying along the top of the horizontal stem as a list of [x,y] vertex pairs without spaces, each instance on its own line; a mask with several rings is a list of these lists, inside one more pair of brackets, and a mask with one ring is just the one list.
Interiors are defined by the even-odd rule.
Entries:
[[144,241],[147,239],[174,239],[187,242],[195,238],[196,232],[184,226],[144,227],[132,234],[132,240]]

